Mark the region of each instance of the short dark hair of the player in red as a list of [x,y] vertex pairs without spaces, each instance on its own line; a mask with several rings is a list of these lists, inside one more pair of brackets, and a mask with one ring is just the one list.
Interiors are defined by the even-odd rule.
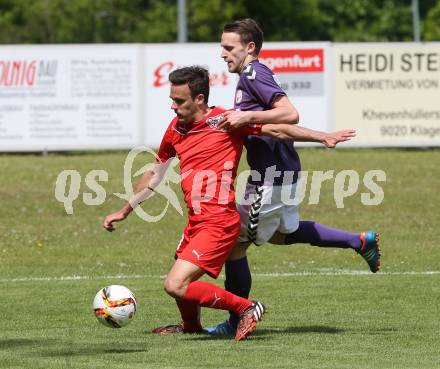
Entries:
[[204,102],[209,99],[209,72],[198,65],[176,69],[170,73],[168,80],[173,85],[188,84],[193,100],[198,94],[203,94]]

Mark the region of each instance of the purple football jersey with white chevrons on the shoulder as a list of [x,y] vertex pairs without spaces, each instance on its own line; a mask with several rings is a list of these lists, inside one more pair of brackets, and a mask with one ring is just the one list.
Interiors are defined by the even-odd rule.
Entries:
[[[272,71],[258,60],[249,63],[240,72],[240,80],[235,92],[235,109],[243,111],[271,109],[277,96],[286,95],[275,81],[275,78]],[[259,172],[261,176],[261,180],[249,178],[250,183],[262,185],[267,168],[272,168],[272,172],[273,170],[280,172],[279,176],[274,178],[274,185],[283,184],[285,172],[287,171],[295,173],[293,179],[287,183],[297,181],[301,164],[292,141],[266,136],[248,136],[245,139],[245,146],[247,161],[251,170]],[[268,175],[269,173],[268,171]],[[271,181],[270,178],[267,178],[267,180]]]

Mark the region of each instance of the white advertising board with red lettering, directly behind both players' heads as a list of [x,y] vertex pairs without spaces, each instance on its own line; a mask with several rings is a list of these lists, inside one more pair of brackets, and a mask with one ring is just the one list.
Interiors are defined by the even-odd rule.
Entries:
[[[329,129],[327,43],[267,42],[260,61],[277,75],[300,113],[301,125],[318,130]],[[228,72],[220,58],[219,43],[146,45],[144,54],[146,105],[144,141],[160,145],[162,136],[174,117],[169,98],[168,74],[182,66],[202,65],[211,74],[209,102],[232,108],[238,76]]]

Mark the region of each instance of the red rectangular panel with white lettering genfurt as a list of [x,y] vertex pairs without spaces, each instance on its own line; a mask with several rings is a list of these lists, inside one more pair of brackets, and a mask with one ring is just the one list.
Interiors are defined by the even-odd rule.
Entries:
[[324,71],[324,49],[261,50],[258,59],[274,73],[319,73]]

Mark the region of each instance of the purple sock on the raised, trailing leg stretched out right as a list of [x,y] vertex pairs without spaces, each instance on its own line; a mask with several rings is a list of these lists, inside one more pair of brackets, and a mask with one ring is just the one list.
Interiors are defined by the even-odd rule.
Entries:
[[350,233],[310,221],[300,221],[298,229],[286,235],[286,245],[292,243],[352,249],[358,249],[361,246],[359,233]]

